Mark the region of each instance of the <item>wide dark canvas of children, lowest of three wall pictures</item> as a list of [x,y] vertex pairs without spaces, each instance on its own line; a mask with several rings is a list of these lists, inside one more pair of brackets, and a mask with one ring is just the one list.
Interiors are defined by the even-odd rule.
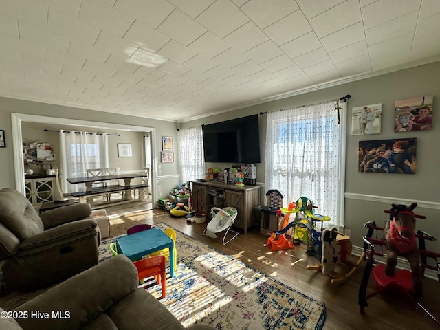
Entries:
[[360,141],[358,171],[415,174],[417,139]]

